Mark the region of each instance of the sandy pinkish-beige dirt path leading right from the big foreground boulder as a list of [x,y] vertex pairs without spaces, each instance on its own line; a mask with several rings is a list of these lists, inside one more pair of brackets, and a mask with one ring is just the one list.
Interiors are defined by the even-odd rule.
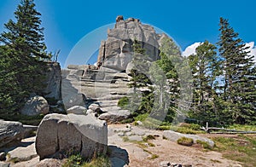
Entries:
[[[185,147],[176,142],[167,141],[162,137],[160,130],[145,130],[138,127],[131,127],[128,136],[140,135],[159,135],[155,140],[150,140],[154,147],[137,144],[136,141],[123,140],[124,136],[119,130],[125,130],[125,124],[110,124],[108,130],[115,133],[109,133],[108,145],[117,146],[124,149],[129,156],[129,165],[131,167],[139,166],[160,166],[163,161],[169,161],[174,164],[187,164],[189,166],[241,166],[238,162],[223,158],[221,153],[206,152],[200,147]],[[143,133],[142,133],[143,132]],[[139,136],[139,135],[136,135]],[[125,137],[127,138],[127,137]],[[133,137],[134,138],[134,137]],[[138,137],[137,137],[138,138]],[[135,137],[136,139],[136,137]],[[138,138],[139,139],[139,138]],[[153,158],[154,157],[154,158]],[[157,158],[156,158],[157,157]]]

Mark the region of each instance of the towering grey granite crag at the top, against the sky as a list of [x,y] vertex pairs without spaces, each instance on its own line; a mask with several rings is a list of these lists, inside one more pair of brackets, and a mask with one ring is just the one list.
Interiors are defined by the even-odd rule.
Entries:
[[114,28],[108,30],[108,39],[101,43],[97,63],[102,63],[103,67],[125,71],[132,59],[132,43],[135,39],[146,49],[151,60],[158,60],[160,39],[163,36],[164,34],[157,34],[153,26],[144,25],[140,20],[124,20],[122,16],[118,16]]

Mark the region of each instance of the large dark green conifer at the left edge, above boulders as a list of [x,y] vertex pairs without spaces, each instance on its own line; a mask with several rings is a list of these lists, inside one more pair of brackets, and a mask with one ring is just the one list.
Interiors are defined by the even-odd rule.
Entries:
[[10,117],[19,112],[31,93],[42,95],[45,65],[44,28],[41,14],[32,0],[22,0],[15,11],[15,19],[6,23],[0,35],[0,114]]

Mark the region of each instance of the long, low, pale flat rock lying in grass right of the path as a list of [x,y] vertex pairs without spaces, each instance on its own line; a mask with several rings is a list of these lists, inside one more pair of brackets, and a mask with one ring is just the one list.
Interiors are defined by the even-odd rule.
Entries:
[[200,135],[188,135],[188,134],[181,134],[172,130],[165,130],[164,131],[164,136],[170,140],[170,141],[175,141],[177,142],[177,140],[181,137],[187,137],[187,138],[191,138],[193,139],[194,143],[196,143],[196,141],[204,141],[207,142],[209,144],[210,147],[214,147],[214,141],[206,138],[206,137],[201,137]]

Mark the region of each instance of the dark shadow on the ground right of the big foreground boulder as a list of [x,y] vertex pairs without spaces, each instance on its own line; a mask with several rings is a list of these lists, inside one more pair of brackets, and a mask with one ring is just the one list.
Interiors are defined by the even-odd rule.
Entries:
[[125,166],[125,164],[129,164],[129,154],[128,152],[120,147],[116,146],[108,146],[111,150],[110,162],[113,167]]

